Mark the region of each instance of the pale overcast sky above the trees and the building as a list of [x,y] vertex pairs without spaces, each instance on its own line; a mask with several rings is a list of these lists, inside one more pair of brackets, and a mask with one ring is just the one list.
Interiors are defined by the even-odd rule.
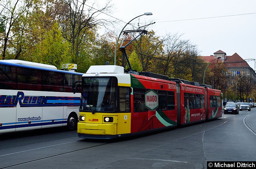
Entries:
[[[197,45],[203,56],[222,50],[227,55],[237,53],[243,59],[256,59],[256,0],[112,0],[111,3],[114,13],[110,15],[126,23],[152,12],[152,16],[141,16],[140,23],[156,22],[149,30],[158,36],[183,34],[181,39]],[[122,30],[124,22],[115,27],[117,31]],[[254,69],[254,61],[248,64]]]

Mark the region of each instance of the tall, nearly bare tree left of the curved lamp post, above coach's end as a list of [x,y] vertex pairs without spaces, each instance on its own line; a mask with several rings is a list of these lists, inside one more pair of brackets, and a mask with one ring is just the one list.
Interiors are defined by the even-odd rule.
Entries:
[[[79,56],[82,52],[81,49],[92,48],[97,27],[104,26],[106,22],[104,19],[97,19],[97,16],[111,9],[112,6],[109,2],[107,1],[103,7],[95,7],[99,9],[96,10],[93,6],[97,3],[91,3],[89,0],[55,1],[55,6],[51,8],[51,11],[54,13],[54,17],[58,19],[64,38],[71,44],[71,61],[73,63],[77,63],[78,58],[81,57],[81,55]],[[83,53],[86,52],[83,51]]]

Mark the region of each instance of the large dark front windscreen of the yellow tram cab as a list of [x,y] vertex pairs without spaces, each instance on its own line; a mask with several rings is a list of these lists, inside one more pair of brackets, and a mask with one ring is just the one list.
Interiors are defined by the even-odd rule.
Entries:
[[116,110],[115,77],[82,77],[80,111],[114,112]]

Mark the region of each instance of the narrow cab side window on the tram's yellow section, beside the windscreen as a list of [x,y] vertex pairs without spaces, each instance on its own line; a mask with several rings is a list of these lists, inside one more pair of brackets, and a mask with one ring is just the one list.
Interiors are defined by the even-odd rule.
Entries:
[[120,112],[130,112],[130,88],[119,88],[119,108]]

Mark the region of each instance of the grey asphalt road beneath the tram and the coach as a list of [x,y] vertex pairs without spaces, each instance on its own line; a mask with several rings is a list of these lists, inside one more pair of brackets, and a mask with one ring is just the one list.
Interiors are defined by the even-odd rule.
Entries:
[[118,140],[89,140],[63,128],[0,135],[0,168],[207,168],[256,161],[256,107],[210,122]]

